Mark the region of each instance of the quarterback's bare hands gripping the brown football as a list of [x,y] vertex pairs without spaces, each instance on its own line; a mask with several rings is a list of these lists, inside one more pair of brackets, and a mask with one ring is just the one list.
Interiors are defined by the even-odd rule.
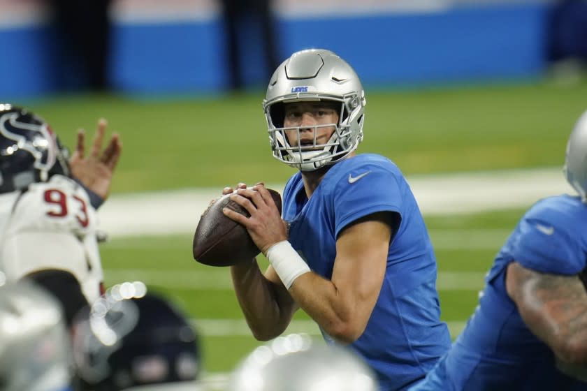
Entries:
[[237,186],[236,193],[231,195],[231,199],[247,209],[251,216],[242,216],[229,208],[224,208],[224,214],[245,226],[256,246],[266,254],[270,246],[287,240],[286,224],[263,183],[258,183],[250,189],[244,184],[240,185]]

